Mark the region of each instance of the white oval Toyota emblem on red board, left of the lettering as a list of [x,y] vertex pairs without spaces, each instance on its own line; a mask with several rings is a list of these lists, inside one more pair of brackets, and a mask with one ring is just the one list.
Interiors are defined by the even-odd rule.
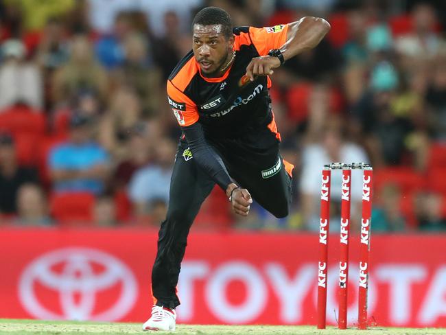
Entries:
[[116,321],[132,308],[137,291],[126,264],[88,248],[45,253],[19,282],[21,303],[36,319]]

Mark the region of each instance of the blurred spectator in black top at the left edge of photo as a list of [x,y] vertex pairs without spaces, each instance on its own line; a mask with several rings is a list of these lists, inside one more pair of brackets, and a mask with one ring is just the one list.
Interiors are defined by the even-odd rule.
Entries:
[[12,137],[0,134],[0,212],[7,216],[16,213],[19,188],[26,183],[37,182],[36,170],[17,165]]

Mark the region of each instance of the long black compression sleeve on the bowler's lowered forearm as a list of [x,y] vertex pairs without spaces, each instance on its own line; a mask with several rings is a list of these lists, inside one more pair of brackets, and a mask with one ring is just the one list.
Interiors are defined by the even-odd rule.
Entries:
[[204,139],[201,124],[196,122],[191,126],[181,127],[181,129],[185,134],[193,159],[226,192],[226,187],[232,183],[231,177],[220,156]]

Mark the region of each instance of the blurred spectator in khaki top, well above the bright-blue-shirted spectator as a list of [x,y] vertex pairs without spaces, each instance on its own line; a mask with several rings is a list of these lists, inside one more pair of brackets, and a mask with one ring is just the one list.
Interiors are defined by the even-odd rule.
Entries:
[[107,73],[93,58],[93,50],[86,36],[74,36],[67,64],[54,73],[53,102],[67,102],[78,91],[88,89],[97,92],[105,101],[108,90]]

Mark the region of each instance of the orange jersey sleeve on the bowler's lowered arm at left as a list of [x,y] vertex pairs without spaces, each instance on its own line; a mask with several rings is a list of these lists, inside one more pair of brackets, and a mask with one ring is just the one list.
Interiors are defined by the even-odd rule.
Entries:
[[167,80],[167,100],[180,126],[190,126],[198,121],[197,105],[170,80]]

